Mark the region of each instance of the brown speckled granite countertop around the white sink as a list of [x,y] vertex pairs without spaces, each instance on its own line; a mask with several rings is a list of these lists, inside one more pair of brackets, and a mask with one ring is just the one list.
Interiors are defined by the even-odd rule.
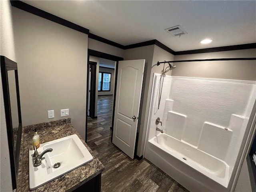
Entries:
[[92,150],[84,142],[82,137],[76,132],[71,125],[70,118],[40,123],[22,128],[22,138],[20,146],[20,162],[18,170],[17,192],[26,192],[29,190],[29,168],[28,168],[28,149],[32,147],[32,137],[34,129],[37,129],[40,136],[40,143],[49,142],[58,138],[77,134],[93,156],[93,160],[87,164],[60,176],[59,178],[33,190],[34,192],[50,191],[72,191],[88,180],[94,178],[104,170],[103,164],[96,158]]

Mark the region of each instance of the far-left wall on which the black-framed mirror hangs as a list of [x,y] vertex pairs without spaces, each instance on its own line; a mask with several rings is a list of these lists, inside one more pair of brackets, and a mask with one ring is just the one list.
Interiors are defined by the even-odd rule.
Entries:
[[[0,1],[0,54],[10,60],[16,61],[14,51],[14,35],[12,28],[12,6],[10,1]],[[10,155],[6,120],[4,112],[4,99],[2,78],[0,76],[0,191],[12,191],[12,178],[10,170]]]

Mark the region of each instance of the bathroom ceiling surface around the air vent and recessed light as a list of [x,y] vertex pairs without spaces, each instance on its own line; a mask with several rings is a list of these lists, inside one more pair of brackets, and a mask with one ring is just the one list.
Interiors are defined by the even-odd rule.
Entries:
[[[256,1],[24,1],[122,45],[158,40],[174,51],[256,42]],[[166,28],[188,33],[173,37]],[[211,44],[199,41],[210,38]]]

